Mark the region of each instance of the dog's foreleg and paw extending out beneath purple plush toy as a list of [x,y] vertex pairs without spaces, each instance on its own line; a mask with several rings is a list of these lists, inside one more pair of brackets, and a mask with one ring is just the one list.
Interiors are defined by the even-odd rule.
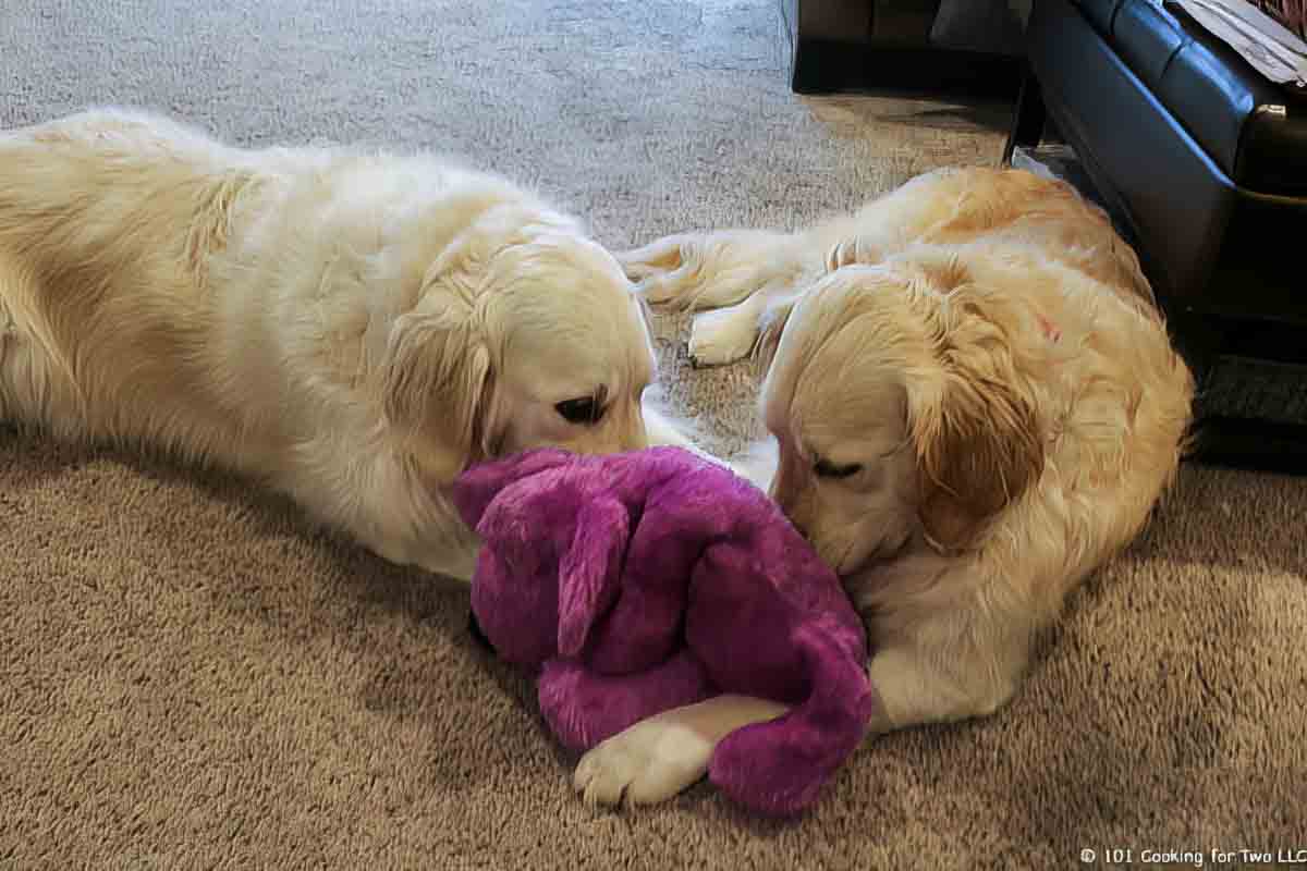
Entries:
[[572,786],[588,804],[652,804],[708,770],[712,750],[736,729],[787,708],[750,696],[715,696],[643,720],[603,742],[576,765]]

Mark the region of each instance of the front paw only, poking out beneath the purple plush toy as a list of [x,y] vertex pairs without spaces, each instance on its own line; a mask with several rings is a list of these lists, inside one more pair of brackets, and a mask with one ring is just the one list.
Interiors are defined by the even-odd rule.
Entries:
[[712,747],[674,718],[654,717],[586,753],[572,786],[592,806],[654,804],[701,780]]

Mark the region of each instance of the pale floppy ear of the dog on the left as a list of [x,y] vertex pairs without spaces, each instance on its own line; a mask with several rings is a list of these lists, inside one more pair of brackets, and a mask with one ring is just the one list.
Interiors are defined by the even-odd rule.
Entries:
[[480,444],[490,370],[490,350],[472,306],[429,287],[417,308],[391,326],[382,358],[386,419],[409,436],[447,448],[448,473],[456,474]]

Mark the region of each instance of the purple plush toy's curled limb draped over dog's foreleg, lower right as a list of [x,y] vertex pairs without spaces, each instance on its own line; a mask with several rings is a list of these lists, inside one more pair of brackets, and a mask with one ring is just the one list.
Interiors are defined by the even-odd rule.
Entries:
[[880,705],[865,663],[821,627],[795,633],[812,693],[784,717],[727,735],[712,752],[708,780],[762,814],[788,816],[812,804],[822,785],[861,743]]

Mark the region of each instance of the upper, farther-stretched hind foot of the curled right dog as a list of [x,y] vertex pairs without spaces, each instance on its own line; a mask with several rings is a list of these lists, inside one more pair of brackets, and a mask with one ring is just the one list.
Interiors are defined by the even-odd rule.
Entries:
[[733,306],[772,277],[791,236],[765,230],[681,234],[618,255],[654,304],[691,311]]

